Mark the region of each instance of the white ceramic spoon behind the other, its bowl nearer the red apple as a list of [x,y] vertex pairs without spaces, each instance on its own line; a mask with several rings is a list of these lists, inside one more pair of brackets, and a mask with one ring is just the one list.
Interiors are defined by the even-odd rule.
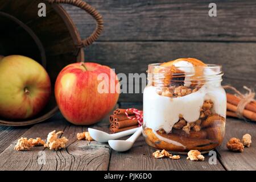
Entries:
[[90,137],[92,137],[97,142],[101,142],[101,143],[105,143],[105,142],[108,142],[108,140],[114,140],[114,139],[118,139],[121,137],[125,137],[127,135],[134,134],[135,131],[137,131],[137,130],[139,130],[139,127],[136,127],[135,129],[121,131],[121,132],[115,133],[115,134],[108,134],[104,131],[91,129],[91,128],[88,129]]

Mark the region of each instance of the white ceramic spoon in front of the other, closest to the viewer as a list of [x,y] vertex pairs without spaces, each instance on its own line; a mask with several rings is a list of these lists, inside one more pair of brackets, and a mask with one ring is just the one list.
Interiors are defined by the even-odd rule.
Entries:
[[139,127],[139,129],[131,135],[130,138],[127,140],[109,140],[109,146],[113,148],[113,150],[118,152],[123,152],[129,150],[131,147],[133,147],[134,142],[137,140],[137,138],[142,134],[142,126]]

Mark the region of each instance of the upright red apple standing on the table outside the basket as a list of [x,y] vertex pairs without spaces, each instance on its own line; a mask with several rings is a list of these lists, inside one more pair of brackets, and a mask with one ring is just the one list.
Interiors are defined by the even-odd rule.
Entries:
[[[105,75],[105,79],[99,79],[101,75]],[[104,93],[102,84],[106,89]],[[109,67],[97,63],[74,63],[59,73],[55,97],[61,113],[69,122],[92,125],[117,104],[119,81]]]

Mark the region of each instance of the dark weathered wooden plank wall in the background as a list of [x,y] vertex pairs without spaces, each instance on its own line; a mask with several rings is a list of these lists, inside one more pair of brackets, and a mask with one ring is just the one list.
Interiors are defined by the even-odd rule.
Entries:
[[[88,0],[103,16],[100,39],[85,48],[86,61],[117,73],[145,73],[147,65],[178,57],[222,64],[223,84],[256,88],[256,1],[214,1],[209,17],[205,0]],[[82,38],[95,23],[84,11],[65,5]],[[119,101],[142,101],[142,94],[121,94]]]

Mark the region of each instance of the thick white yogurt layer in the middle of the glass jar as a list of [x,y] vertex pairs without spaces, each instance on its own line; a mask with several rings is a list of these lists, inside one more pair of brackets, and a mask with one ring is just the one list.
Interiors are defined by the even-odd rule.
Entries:
[[159,96],[155,86],[146,86],[143,92],[144,126],[153,131],[164,129],[170,133],[180,114],[187,122],[199,119],[204,100],[212,100],[213,112],[226,116],[226,93],[220,83],[205,84],[195,93],[176,98]]

